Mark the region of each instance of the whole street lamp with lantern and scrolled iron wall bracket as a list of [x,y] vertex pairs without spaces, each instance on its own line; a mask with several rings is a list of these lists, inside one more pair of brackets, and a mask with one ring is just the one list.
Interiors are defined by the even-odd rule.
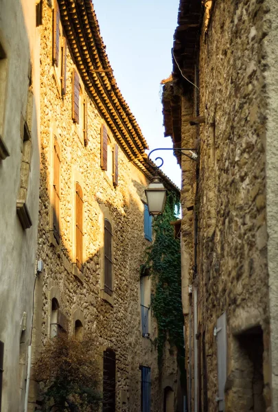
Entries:
[[[189,157],[189,159],[192,159],[195,161],[197,160],[197,154],[195,152],[195,149],[157,148],[157,149],[152,150],[148,155],[148,162],[150,163],[150,165],[152,165],[152,167],[153,167],[153,163],[151,163],[150,161],[150,155],[156,150],[173,150],[174,152],[180,152],[181,155],[185,155]],[[185,153],[184,152],[185,150],[191,152],[191,155],[188,155],[187,153]],[[156,166],[158,170],[159,168],[161,168],[164,161],[162,157],[157,157],[155,160],[161,161],[161,164],[159,166]],[[147,189],[145,190],[145,193],[146,193],[146,198],[147,198],[147,203],[148,203],[149,214],[152,216],[159,216],[160,214],[163,214],[165,203],[166,203],[167,190],[165,189],[163,182],[157,173],[152,178],[152,181],[150,182]]]

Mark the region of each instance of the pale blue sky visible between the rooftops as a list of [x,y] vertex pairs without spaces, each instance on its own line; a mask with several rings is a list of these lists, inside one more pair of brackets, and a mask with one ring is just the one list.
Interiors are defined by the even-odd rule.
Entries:
[[[178,3],[178,0],[93,0],[117,84],[150,150],[172,147],[171,138],[163,135],[160,82],[172,71],[171,49]],[[181,170],[172,152],[154,155],[163,157],[163,172],[180,186]]]

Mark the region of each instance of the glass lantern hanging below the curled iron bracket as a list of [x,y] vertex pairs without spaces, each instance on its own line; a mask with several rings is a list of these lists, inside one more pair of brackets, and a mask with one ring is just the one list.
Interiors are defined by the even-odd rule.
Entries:
[[165,207],[167,190],[159,177],[155,176],[145,190],[149,213],[152,216],[162,214]]

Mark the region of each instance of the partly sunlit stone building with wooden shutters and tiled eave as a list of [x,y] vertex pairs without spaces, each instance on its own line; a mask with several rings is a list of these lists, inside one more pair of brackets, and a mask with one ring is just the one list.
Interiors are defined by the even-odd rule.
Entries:
[[[140,277],[152,242],[144,190],[154,169],[146,140],[115,82],[91,0],[44,1],[42,16],[37,260],[43,270],[33,361],[61,330],[89,332],[102,365],[112,362],[107,410],[161,411],[165,403],[174,411],[176,357],[167,350],[159,375],[154,286]],[[28,411],[36,408],[32,379]]]

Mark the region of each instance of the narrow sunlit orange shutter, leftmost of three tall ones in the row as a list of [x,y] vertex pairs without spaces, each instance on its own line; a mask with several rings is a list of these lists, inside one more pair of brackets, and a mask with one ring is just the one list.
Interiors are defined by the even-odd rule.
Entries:
[[54,182],[53,182],[53,231],[54,238],[60,244],[60,147],[54,137]]

